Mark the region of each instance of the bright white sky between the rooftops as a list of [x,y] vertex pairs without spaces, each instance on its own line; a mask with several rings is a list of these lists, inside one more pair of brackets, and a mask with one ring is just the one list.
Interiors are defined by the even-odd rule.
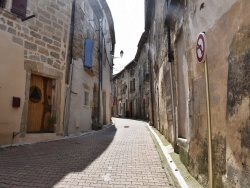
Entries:
[[144,32],[144,0],[106,0],[115,26],[115,57],[113,74],[120,72],[134,58]]

